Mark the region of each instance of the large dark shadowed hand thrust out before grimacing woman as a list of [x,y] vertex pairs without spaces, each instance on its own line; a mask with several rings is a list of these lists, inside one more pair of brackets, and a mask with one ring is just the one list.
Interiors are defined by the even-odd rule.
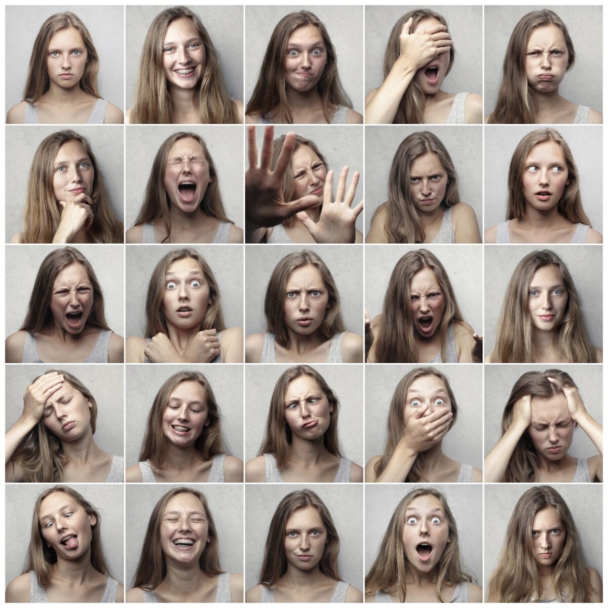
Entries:
[[313,195],[303,196],[293,202],[283,200],[283,177],[294,152],[295,134],[288,133],[285,136],[283,149],[274,170],[271,170],[273,135],[274,128],[267,126],[264,129],[264,143],[258,167],[255,127],[247,127],[249,168],[245,171],[245,219],[249,229],[276,226],[299,211],[319,205],[319,198]]

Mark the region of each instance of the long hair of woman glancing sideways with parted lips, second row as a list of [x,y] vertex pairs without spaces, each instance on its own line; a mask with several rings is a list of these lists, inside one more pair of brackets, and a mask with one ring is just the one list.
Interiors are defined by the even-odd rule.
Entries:
[[528,156],[539,143],[555,142],[558,144],[568,169],[568,183],[558,202],[558,211],[573,224],[590,225],[589,218],[582,209],[581,189],[579,187],[578,170],[572,152],[565,139],[554,129],[537,129],[531,131],[517,144],[509,166],[509,195],[506,207],[506,219],[521,219],[526,214],[526,199],[523,196],[523,171]]

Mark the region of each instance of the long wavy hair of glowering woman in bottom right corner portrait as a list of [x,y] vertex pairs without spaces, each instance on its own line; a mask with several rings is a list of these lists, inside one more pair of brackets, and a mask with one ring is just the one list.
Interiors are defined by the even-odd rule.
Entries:
[[489,578],[486,601],[522,603],[541,598],[544,586],[532,556],[532,528],[536,514],[548,506],[558,512],[566,536],[562,553],[552,565],[558,602],[591,601],[589,570],[582,559],[574,518],[561,494],[551,486],[530,488],[517,501],[506,528],[499,565]]

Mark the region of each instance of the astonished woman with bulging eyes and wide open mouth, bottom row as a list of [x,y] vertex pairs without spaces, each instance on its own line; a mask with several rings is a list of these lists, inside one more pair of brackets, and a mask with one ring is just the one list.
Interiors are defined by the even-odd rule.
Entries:
[[414,488],[401,499],[365,577],[365,602],[482,601],[462,565],[458,527],[438,489]]

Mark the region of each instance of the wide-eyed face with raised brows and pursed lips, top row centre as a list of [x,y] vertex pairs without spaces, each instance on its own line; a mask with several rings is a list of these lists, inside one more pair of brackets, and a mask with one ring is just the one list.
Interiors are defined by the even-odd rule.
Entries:
[[327,49],[316,26],[297,27],[287,41],[285,83],[294,91],[314,89],[323,75]]

